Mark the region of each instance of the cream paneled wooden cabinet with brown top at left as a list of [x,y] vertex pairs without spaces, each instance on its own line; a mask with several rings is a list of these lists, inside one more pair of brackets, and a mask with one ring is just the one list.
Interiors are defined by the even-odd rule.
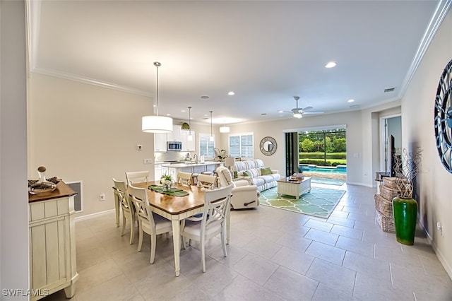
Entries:
[[60,181],[52,192],[29,195],[30,300],[61,289],[68,298],[76,293],[76,194]]

